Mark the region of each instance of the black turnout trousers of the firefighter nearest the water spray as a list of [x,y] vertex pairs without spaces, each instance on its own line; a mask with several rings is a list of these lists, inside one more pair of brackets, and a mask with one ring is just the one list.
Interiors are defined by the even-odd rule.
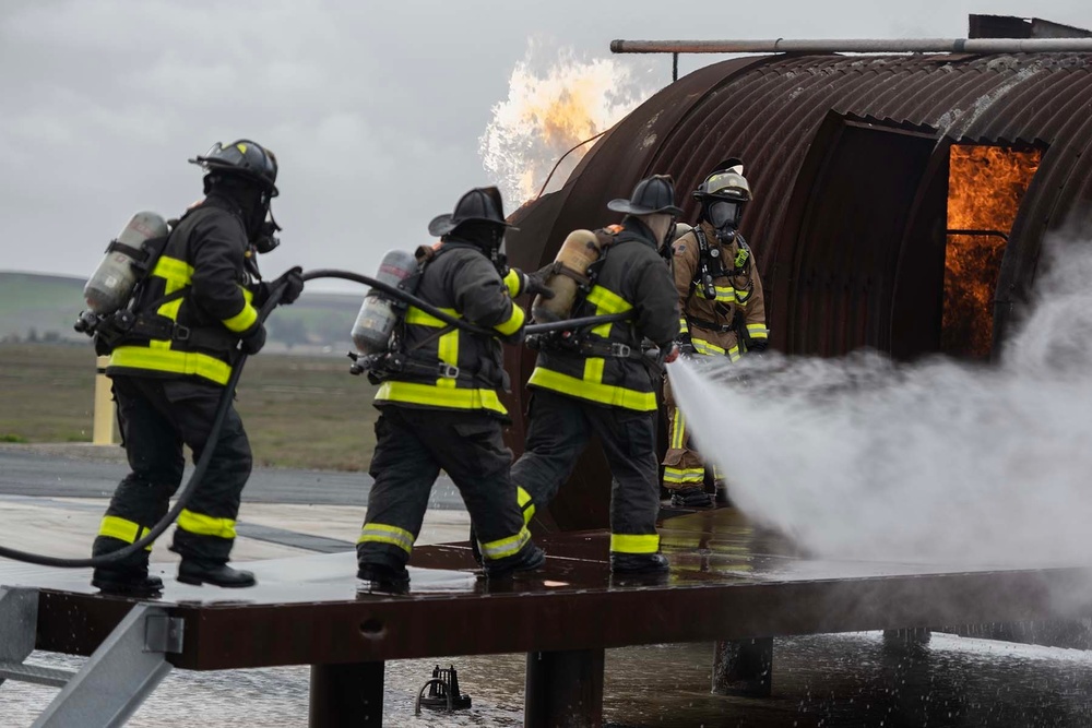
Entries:
[[595,405],[536,389],[526,450],[512,466],[512,481],[533,504],[546,505],[568,480],[592,434],[598,435],[610,465],[610,551],[656,553],[656,413]]

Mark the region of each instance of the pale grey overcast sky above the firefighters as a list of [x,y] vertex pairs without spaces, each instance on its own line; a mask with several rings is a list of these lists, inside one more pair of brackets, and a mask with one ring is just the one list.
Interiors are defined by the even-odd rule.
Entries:
[[[1088,0],[3,0],[0,270],[86,277],[133,212],[200,196],[187,158],[250,138],[281,160],[266,275],[371,274],[499,181],[479,140],[532,45],[534,71],[613,38],[964,37],[971,12],[1092,27]],[[670,81],[669,56],[612,60]]]

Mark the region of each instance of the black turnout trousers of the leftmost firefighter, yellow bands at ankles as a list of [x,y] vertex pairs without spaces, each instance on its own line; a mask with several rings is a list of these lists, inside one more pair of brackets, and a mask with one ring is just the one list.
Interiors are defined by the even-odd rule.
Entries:
[[[224,387],[195,380],[114,377],[118,420],[131,473],[121,480],[95,539],[95,556],[115,551],[146,534],[167,513],[182,480],[182,445],[195,463],[209,446]],[[183,559],[226,563],[235,542],[235,520],[252,457],[242,420],[229,406],[213,444],[204,478],[178,516],[170,550]],[[143,572],[151,547],[115,570]]]

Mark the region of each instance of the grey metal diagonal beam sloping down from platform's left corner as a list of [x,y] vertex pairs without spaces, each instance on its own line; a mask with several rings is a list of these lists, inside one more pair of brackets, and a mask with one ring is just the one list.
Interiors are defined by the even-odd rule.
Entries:
[[170,672],[165,655],[181,649],[181,626],[162,607],[133,607],[32,728],[123,726]]

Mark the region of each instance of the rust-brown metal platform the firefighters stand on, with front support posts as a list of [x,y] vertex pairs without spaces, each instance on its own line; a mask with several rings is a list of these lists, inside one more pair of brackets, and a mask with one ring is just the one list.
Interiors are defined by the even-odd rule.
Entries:
[[[539,539],[546,568],[501,582],[478,578],[468,548],[448,545],[415,550],[406,595],[358,592],[354,554],[340,553],[252,562],[250,589],[168,574],[154,604],[185,624],[166,656],[175,667],[314,666],[312,726],[381,721],[385,660],[526,653],[526,725],[597,726],[606,648],[1092,614],[1070,596],[1089,594],[1084,568],[811,559],[732,509],[670,518],[661,534],[672,571],[660,580],[613,577],[608,535],[589,532]],[[94,594],[85,572],[5,565],[0,583],[39,589],[44,651],[90,655],[133,607]]]

